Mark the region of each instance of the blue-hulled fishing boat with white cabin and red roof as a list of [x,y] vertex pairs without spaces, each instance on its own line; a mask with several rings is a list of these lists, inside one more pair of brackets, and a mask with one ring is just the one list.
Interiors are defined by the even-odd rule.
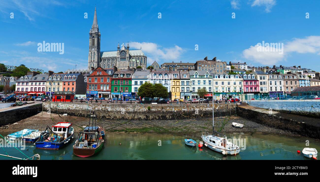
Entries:
[[47,126],[40,139],[35,142],[36,149],[55,149],[58,150],[67,145],[73,138],[74,129],[72,123],[59,122],[51,127]]

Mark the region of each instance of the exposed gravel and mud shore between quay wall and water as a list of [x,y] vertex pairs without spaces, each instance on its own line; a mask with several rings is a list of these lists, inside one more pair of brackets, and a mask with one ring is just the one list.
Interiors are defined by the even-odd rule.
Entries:
[[[24,128],[42,129],[46,126],[53,126],[57,122],[70,121],[76,132],[87,126],[89,118],[76,116],[59,116],[58,114],[38,113],[35,116],[21,120],[17,123],[1,126],[0,132],[16,132]],[[128,132],[128,133],[171,133],[177,135],[188,135],[200,132],[212,132],[212,118],[197,118],[192,120],[97,120],[98,125],[107,132]],[[220,133],[234,132],[262,132],[268,134],[280,134],[287,136],[299,136],[281,129],[272,128],[238,116],[217,117],[214,119],[214,129]],[[232,126],[232,122],[244,124],[243,128]]]

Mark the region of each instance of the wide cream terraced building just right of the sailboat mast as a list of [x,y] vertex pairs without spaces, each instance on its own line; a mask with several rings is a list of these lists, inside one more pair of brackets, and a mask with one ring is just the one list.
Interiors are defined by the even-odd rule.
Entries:
[[242,88],[242,77],[237,75],[214,75],[214,100],[225,98],[239,98]]

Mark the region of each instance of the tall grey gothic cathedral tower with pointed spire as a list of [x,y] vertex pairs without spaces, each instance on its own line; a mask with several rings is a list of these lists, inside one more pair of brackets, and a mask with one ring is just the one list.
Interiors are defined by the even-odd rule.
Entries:
[[96,8],[94,8],[93,24],[89,32],[88,70],[91,70],[91,67],[97,68],[99,66],[100,38],[101,34],[98,27],[97,11]]

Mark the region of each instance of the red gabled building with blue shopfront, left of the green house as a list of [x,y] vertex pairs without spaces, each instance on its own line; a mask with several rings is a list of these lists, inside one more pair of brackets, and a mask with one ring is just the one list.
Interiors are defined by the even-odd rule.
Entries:
[[103,69],[100,66],[92,70],[87,76],[87,92],[88,97],[111,97],[111,77],[114,69]]

